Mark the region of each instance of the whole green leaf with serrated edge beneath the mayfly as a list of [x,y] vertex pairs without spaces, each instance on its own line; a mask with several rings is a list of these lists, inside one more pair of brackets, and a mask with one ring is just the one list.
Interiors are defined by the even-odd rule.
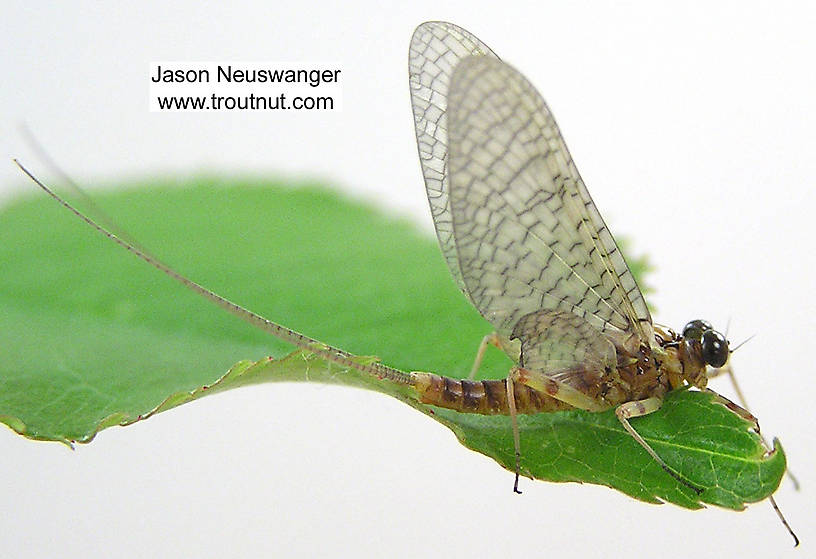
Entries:
[[[205,186],[215,182],[96,198],[153,254],[238,304],[399,369],[467,375],[490,326],[456,289],[433,239],[320,188]],[[0,421],[33,439],[88,442],[105,427],[247,384],[331,382],[397,397],[514,467],[508,417],[423,405],[409,387],[291,352],[45,196],[0,213],[0,309]],[[502,378],[510,366],[492,351],[481,372]],[[706,489],[699,500],[613,412],[519,424],[525,475],[608,485],[649,502],[740,509],[770,495],[785,470],[781,447],[766,453],[748,422],[705,393],[672,393],[660,411],[633,420],[668,464]]]

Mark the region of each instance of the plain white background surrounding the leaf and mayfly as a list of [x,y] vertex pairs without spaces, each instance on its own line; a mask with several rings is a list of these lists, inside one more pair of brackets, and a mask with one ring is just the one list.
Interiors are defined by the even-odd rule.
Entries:
[[[269,0],[3,2],[0,186],[37,169],[25,121],[82,182],[202,170],[331,179],[431,223],[413,139],[414,27],[471,30],[543,92],[613,230],[657,265],[657,319],[757,337],[735,358],[804,488],[780,505],[805,549],[812,503],[816,15],[807,4]],[[150,113],[152,60],[331,60],[341,113]],[[172,215],[166,216],[173,219]],[[286,317],[270,317],[286,322]],[[462,340],[474,344],[474,340]],[[236,358],[241,356],[236,356]],[[725,382],[724,393],[730,394]],[[0,429],[4,557],[769,556],[769,505],[650,506],[523,483],[381,395],[253,387],[103,432],[71,452]]]

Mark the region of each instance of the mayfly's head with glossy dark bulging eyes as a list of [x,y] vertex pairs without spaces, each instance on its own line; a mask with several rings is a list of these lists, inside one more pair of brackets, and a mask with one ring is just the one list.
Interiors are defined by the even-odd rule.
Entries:
[[683,327],[680,348],[683,375],[697,388],[705,388],[708,380],[706,365],[720,368],[731,353],[725,336],[706,320],[692,320]]

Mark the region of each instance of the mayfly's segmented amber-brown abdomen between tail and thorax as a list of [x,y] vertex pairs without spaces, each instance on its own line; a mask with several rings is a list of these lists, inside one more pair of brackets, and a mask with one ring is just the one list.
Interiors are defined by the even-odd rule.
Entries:
[[509,415],[507,382],[513,382],[516,413],[533,414],[574,409],[518,381],[454,380],[431,373],[412,373],[414,388],[423,404],[481,415]]

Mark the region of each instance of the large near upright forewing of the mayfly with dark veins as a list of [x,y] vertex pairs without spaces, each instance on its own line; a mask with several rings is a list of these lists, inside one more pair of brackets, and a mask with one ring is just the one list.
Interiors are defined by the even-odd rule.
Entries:
[[482,315],[510,335],[529,313],[565,311],[632,350],[650,344],[643,295],[524,76],[497,59],[463,59],[448,130],[453,238]]

